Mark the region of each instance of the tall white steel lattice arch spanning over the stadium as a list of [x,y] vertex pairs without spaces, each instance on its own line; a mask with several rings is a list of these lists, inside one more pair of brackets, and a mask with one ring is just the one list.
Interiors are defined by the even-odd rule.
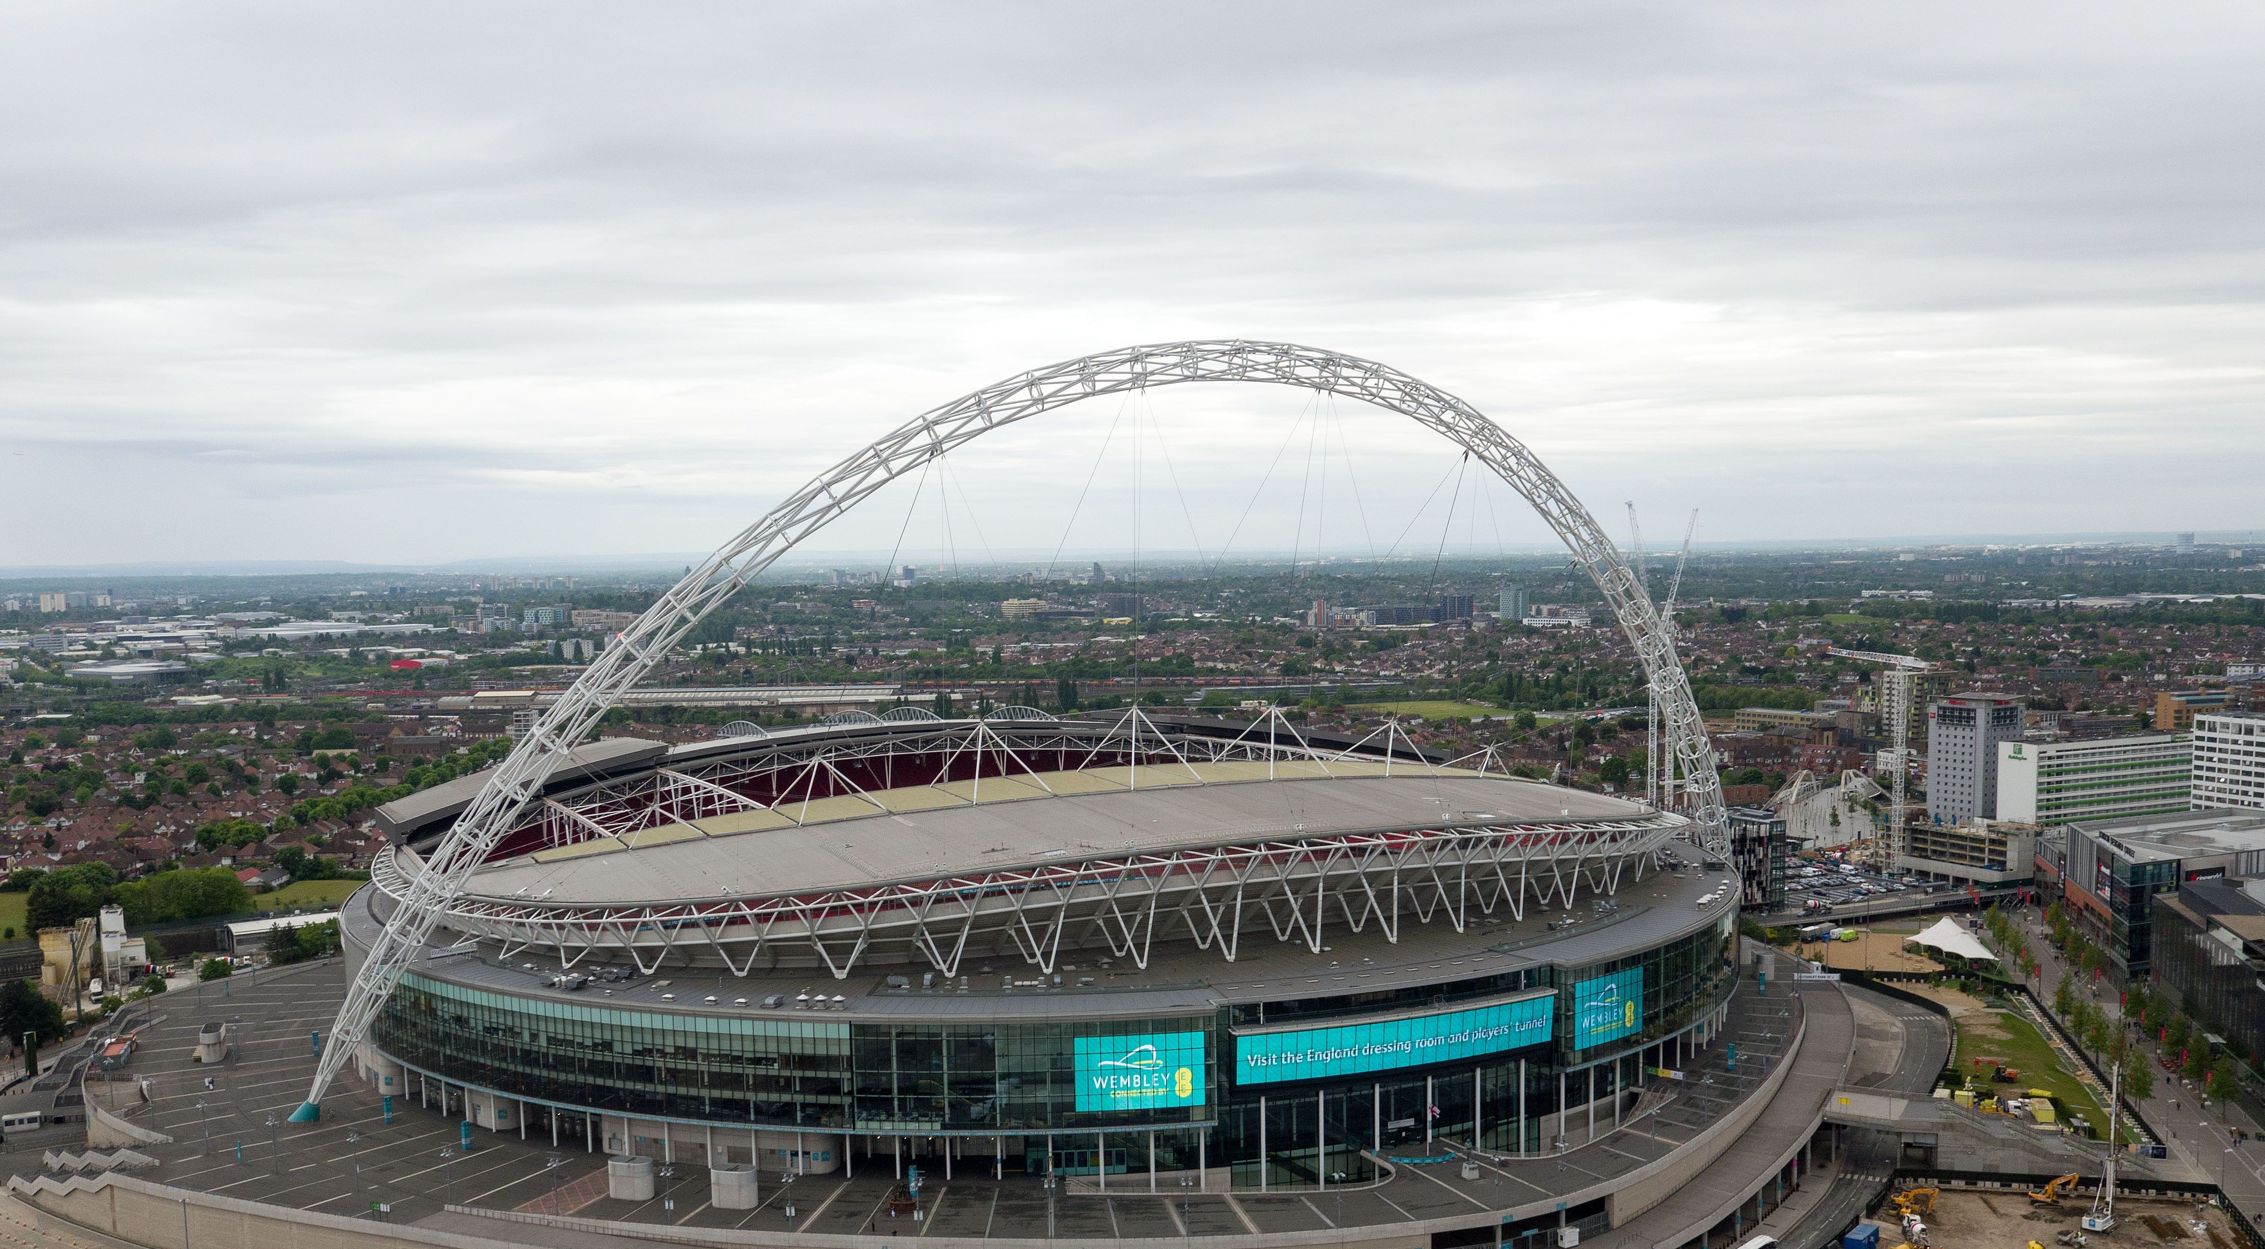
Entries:
[[1522,493],[1597,582],[1629,634],[1644,677],[1660,692],[1669,742],[1683,774],[1690,776],[1687,812],[1694,837],[1710,855],[1728,858],[1715,747],[1706,738],[1690,679],[1676,658],[1674,636],[1613,539],[1524,443],[1461,398],[1373,360],[1287,342],[1126,346],[1006,378],[906,421],[772,507],[639,615],[616,645],[582,670],[535,729],[519,738],[448,837],[435,846],[426,871],[408,885],[408,896],[371,941],[362,968],[347,987],[331,1043],[292,1120],[319,1118],[322,1093],[367,1039],[369,1023],[433,934],[442,912],[464,891],[469,876],[516,824],[528,801],[541,794],[544,781],[566,751],[709,611],[888,482],[990,430],[1083,398],[1182,382],[1268,382],[1357,398],[1443,434]]

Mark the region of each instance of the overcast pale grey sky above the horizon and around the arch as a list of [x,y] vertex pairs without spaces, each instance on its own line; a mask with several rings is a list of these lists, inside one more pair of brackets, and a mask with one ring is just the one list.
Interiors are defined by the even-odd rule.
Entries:
[[[704,550],[1187,337],[1411,371],[1615,534],[2265,529],[2251,5],[0,14],[0,566]],[[1547,539],[1452,468],[1180,387],[818,543],[1123,545],[1135,471],[1155,545]]]

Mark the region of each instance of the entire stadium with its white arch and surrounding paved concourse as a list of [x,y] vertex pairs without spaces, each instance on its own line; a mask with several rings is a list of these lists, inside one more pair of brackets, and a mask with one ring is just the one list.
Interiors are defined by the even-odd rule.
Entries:
[[[1522,493],[1635,647],[1676,808],[1280,710],[600,733],[888,482],[1189,382],[1370,403]],[[113,1152],[48,1152],[100,1174],[11,1192],[183,1249],[1617,1249],[1755,1226],[1807,1249],[1894,1168],[1903,1111],[1873,1102],[1923,1095],[1948,1054],[1925,1011],[1798,959],[1780,980],[1737,934],[1672,620],[1565,484],[1472,405],[1298,344],[1119,348],[915,416],[689,568],[501,765],[378,824],[344,959],[168,993],[136,1018],[138,1075],[84,1084],[84,1111],[63,1097],[91,1059],[59,1061],[43,1122]],[[1803,1186],[1823,1156],[1841,1177]]]

